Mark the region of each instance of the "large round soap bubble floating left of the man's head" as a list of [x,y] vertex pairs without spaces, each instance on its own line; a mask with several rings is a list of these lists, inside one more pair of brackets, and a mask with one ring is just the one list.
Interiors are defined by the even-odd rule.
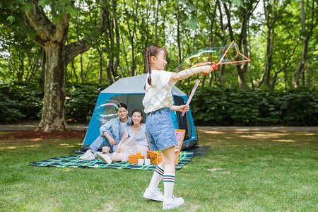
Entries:
[[95,107],[95,117],[102,123],[110,122],[118,117],[120,104],[115,100],[105,100]]

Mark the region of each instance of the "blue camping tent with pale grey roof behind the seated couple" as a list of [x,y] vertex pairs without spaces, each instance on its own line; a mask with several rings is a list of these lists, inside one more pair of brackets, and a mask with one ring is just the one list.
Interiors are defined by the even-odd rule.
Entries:
[[[146,82],[146,73],[131,76],[127,78],[121,78],[116,83],[112,84],[102,90],[98,95],[98,100],[96,105],[105,100],[116,100],[117,102],[125,103],[128,107],[129,117],[134,109],[140,109],[143,111],[143,96],[145,90],[143,89]],[[187,102],[187,95],[182,92],[179,88],[174,86],[172,88],[172,96],[175,105],[184,105]],[[175,129],[185,129],[186,134],[184,136],[184,142],[182,143],[182,150],[191,148],[197,144],[196,131],[194,129],[194,122],[191,114],[191,110],[187,112],[182,117],[182,112],[171,111],[171,117]],[[144,122],[146,121],[146,115],[143,114]],[[86,133],[85,139],[83,141],[83,146],[81,151],[86,151],[95,139],[100,135],[100,122],[94,115],[90,119],[90,124],[88,125],[88,131]]]

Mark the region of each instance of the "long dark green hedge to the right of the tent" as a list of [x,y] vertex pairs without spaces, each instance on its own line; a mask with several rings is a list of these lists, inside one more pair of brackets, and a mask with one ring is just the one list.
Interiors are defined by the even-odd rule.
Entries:
[[195,123],[206,126],[304,126],[318,124],[318,92],[288,93],[199,88],[192,101]]

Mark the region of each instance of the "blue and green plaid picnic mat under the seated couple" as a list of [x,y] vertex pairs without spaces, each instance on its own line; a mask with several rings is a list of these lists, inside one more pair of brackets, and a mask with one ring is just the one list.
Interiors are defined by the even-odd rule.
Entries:
[[[100,159],[95,160],[81,160],[83,153],[76,153],[70,156],[50,158],[47,160],[40,160],[37,162],[30,162],[31,165],[37,166],[54,166],[54,167],[102,167],[102,168],[115,168],[115,169],[134,169],[134,170],[155,170],[156,165],[137,165],[128,162],[115,162],[112,164],[106,164]],[[178,165],[175,165],[175,169],[179,170],[182,166],[189,163],[194,157],[194,153],[181,151],[179,153]]]

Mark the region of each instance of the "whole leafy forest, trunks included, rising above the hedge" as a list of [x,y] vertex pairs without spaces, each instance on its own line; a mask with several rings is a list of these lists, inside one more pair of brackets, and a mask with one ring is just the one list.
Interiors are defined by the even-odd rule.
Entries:
[[[1,0],[0,82],[4,86],[18,81],[44,89],[45,77],[49,80],[47,64],[55,63],[47,61],[54,59],[49,48],[59,46],[49,42],[55,39],[49,33],[47,40],[39,33],[45,32],[46,23],[31,16],[38,13],[35,6],[44,11],[45,21],[68,24],[61,42],[66,59],[57,60],[66,67],[61,72],[66,83],[97,83],[97,90],[119,78],[145,73],[143,54],[149,45],[167,49],[166,69],[173,71],[190,53],[235,40],[251,62],[219,66],[210,75],[179,82],[179,87],[191,90],[196,78],[201,79],[202,89],[250,93],[259,89],[288,93],[300,87],[314,92],[318,87],[317,0]],[[68,52],[67,47],[73,49]],[[52,72],[57,75],[58,71]],[[62,88],[67,90],[65,85]],[[307,101],[315,105],[317,98]],[[311,114],[317,114],[317,106],[313,108]]]

